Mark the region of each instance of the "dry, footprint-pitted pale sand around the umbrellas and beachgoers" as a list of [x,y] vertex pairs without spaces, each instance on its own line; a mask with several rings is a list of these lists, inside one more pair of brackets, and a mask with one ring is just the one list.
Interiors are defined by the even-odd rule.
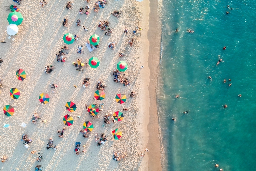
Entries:
[[[34,170],[36,164],[43,166],[43,170],[144,170],[145,166],[141,163],[140,152],[145,149],[148,135],[143,119],[143,112],[139,110],[138,100],[144,100],[145,103],[140,105],[148,105],[148,99],[141,99],[139,96],[141,79],[139,68],[142,65],[140,56],[143,51],[140,42],[141,35],[134,36],[132,31],[136,26],[141,26],[143,6],[135,0],[109,0],[104,9],[99,13],[92,11],[93,3],[89,3],[90,14],[79,15],[78,11],[81,6],[88,5],[84,0],[75,0],[73,10],[66,9],[68,1],[47,1],[48,4],[43,8],[39,5],[39,1],[22,0],[19,8],[24,17],[23,23],[19,25],[19,33],[13,38],[15,41],[7,39],[6,28],[9,25],[7,16],[11,12],[5,10],[11,4],[17,3],[8,1],[0,2],[2,16],[0,18],[0,37],[1,41],[7,43],[0,44],[0,58],[4,62],[0,66],[0,78],[3,87],[0,88],[0,107],[11,104],[15,108],[15,113],[11,117],[7,117],[1,112],[0,115],[0,155],[8,157],[8,161],[0,164],[0,170]],[[123,11],[120,19],[111,15],[113,10]],[[69,19],[70,26],[68,28],[62,26],[62,20]],[[82,26],[89,28],[85,32],[82,27],[77,27],[75,22],[81,20]],[[103,36],[104,32],[98,28],[98,22],[105,20],[110,22],[110,28],[113,29],[112,36]],[[123,34],[123,30],[127,28],[129,34]],[[142,31],[142,35],[147,30]],[[80,39],[69,45],[69,54],[66,55],[66,63],[56,61],[55,54],[61,47],[65,45],[62,37],[65,33],[79,35]],[[100,48],[92,53],[88,52],[85,47],[86,41],[90,35],[98,34],[101,38]],[[128,40],[134,38],[133,47],[129,47]],[[112,51],[107,47],[107,42],[117,42],[116,48]],[[77,45],[84,45],[84,54],[77,54]],[[119,58],[118,52],[124,52],[126,57]],[[146,52],[148,54],[148,52]],[[100,60],[100,66],[97,69],[90,67],[85,71],[75,71],[72,62],[78,58],[86,60],[86,58],[97,57]],[[116,69],[119,61],[126,61],[128,70],[125,72],[127,78],[131,80],[130,86],[123,86],[114,83],[112,70]],[[44,66],[53,65],[55,67],[51,74],[44,74]],[[147,66],[146,62],[144,63]],[[27,79],[24,81],[17,80],[15,74],[18,69],[24,69],[27,73]],[[82,87],[82,81],[85,77],[90,78],[91,85],[87,88]],[[149,77],[149,75],[145,75]],[[94,91],[96,91],[96,83],[101,80],[106,85],[106,98],[102,101],[94,100]],[[55,83],[59,87],[55,89],[55,93],[51,93],[50,84]],[[77,85],[75,88],[73,85]],[[146,86],[145,86],[146,87]],[[9,96],[11,88],[18,88],[21,96],[17,100],[13,100]],[[130,98],[131,91],[137,92],[139,95]],[[47,104],[41,104],[38,100],[39,94],[45,92],[50,96]],[[128,99],[125,104],[119,104],[115,101],[117,93],[124,93]],[[77,110],[70,113],[66,110],[67,101],[73,101],[77,105]],[[104,110],[99,113],[100,118],[94,119],[86,111],[85,104],[104,103]],[[125,118],[118,123],[111,123],[102,127],[103,116],[107,112],[122,110],[127,107],[130,110],[124,112]],[[38,122],[36,125],[31,123],[32,113],[37,112],[41,115],[41,120],[46,123]],[[70,127],[65,126],[62,122],[64,115],[70,114],[74,117],[74,124]],[[77,118],[80,115],[81,118]],[[39,120],[40,121],[40,120]],[[83,138],[79,134],[79,130],[83,128],[85,121],[91,121],[94,124],[92,135]],[[25,122],[27,126],[21,127],[21,123]],[[10,124],[8,128],[2,126]],[[64,138],[58,138],[56,131],[63,126],[67,127]],[[123,136],[120,140],[111,141],[111,131],[119,128]],[[140,130],[144,129],[142,133]],[[109,139],[104,145],[96,146],[94,134],[104,133]],[[21,141],[22,134],[28,134],[33,139],[29,148],[23,147]],[[141,136],[144,134],[144,136]],[[53,138],[57,150],[46,149],[47,140]],[[75,155],[75,142],[81,142],[86,145],[85,153]],[[81,151],[83,147],[80,148]],[[43,156],[42,162],[36,162],[37,153],[30,154],[32,150]],[[151,149],[153,151],[153,149]],[[112,160],[113,151],[126,152],[127,158],[120,162]],[[146,154],[147,155],[147,154]],[[148,158],[144,158],[148,160]],[[145,161],[144,163],[147,163]]]

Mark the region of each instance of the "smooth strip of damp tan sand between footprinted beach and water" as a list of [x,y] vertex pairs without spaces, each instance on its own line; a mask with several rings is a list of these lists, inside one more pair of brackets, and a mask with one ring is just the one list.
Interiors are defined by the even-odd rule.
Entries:
[[[143,123],[141,136],[144,140],[142,148],[148,148],[149,151],[144,156],[140,163],[141,170],[162,170],[161,166],[161,142],[159,138],[159,119],[156,104],[156,89],[157,89],[157,75],[160,64],[160,49],[161,49],[161,32],[159,16],[158,16],[158,1],[144,0],[141,2],[143,6],[142,27],[147,30],[147,34],[143,34],[141,42],[142,48],[142,65],[144,68],[140,72],[142,81],[140,103],[141,113],[143,112]],[[149,26],[156,27],[149,27]],[[161,30],[161,29],[160,29]],[[144,101],[143,99],[149,99]],[[157,124],[156,124],[157,123]],[[158,131],[156,131],[158,130]]]

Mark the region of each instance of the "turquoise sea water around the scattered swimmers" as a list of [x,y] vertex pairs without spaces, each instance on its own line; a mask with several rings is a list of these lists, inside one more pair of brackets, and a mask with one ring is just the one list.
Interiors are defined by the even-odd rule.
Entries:
[[[162,3],[157,103],[164,169],[256,170],[256,1]],[[224,62],[216,66],[219,55]]]

